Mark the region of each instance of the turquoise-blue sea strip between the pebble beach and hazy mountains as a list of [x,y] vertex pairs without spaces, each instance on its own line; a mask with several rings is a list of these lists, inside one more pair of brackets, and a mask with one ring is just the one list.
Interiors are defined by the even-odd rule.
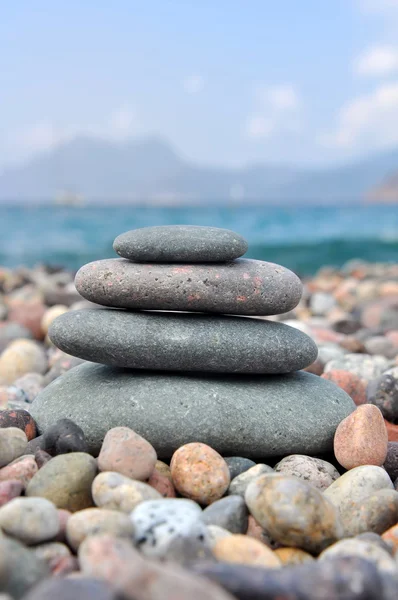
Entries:
[[398,206],[0,206],[0,265],[77,270],[114,257],[129,229],[190,224],[224,227],[249,242],[247,257],[283,264],[298,275],[351,259],[398,262]]

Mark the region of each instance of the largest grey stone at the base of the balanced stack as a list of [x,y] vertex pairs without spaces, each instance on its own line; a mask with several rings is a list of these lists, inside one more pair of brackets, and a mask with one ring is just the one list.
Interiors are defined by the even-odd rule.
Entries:
[[159,458],[198,439],[223,455],[263,457],[331,451],[337,425],[354,409],[342,389],[304,371],[222,377],[84,363],[46,387],[31,414],[40,433],[72,419],[95,455],[105,433],[123,425]]

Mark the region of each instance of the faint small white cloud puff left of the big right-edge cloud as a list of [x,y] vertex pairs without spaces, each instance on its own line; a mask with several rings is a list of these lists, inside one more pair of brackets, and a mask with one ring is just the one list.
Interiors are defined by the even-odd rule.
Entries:
[[278,132],[299,131],[299,108],[299,95],[292,84],[256,86],[254,109],[244,126],[246,137],[259,140]]

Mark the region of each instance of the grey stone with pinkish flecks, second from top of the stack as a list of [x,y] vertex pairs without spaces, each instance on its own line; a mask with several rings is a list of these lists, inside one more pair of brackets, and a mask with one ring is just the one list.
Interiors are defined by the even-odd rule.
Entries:
[[292,310],[302,293],[289,269],[244,258],[178,266],[98,260],[78,271],[75,285],[87,300],[114,308],[257,316]]

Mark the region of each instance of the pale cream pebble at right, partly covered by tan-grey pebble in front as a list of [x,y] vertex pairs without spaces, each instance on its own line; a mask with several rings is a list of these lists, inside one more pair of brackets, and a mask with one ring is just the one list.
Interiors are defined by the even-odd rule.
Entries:
[[364,465],[341,475],[325,491],[324,496],[341,515],[349,514],[358,502],[379,490],[392,490],[393,484],[381,467]]

